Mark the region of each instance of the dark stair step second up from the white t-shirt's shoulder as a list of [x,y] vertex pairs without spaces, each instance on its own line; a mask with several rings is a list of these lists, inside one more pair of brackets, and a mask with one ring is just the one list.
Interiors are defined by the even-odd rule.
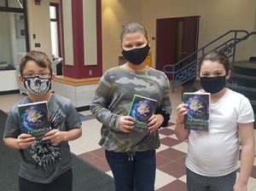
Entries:
[[231,73],[230,83],[241,85],[241,86],[246,86],[249,88],[254,88],[254,87],[256,87],[256,77],[242,75],[242,74],[233,72],[233,73]]

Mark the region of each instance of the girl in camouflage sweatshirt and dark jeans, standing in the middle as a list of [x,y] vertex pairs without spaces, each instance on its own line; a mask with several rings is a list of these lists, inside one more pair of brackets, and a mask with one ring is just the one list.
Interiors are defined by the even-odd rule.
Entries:
[[[113,67],[102,76],[90,111],[102,123],[99,144],[105,148],[115,189],[153,191],[155,149],[160,147],[158,128],[166,126],[171,114],[169,81],[164,72],[146,64],[148,34],[130,23],[120,35],[123,66]],[[146,130],[136,130],[136,120],[128,115],[134,95],[158,101]]]

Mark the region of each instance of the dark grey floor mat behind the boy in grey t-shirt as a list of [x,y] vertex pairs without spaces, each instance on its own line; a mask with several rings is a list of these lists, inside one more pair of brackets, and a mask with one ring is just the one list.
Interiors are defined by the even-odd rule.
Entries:
[[[7,114],[0,110],[0,190],[18,191],[18,150],[3,145]],[[112,191],[113,178],[73,154],[73,191]]]

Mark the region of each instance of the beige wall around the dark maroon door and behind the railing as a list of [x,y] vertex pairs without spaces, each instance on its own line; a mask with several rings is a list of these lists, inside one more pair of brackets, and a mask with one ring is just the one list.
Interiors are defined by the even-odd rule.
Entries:
[[[247,0],[246,3],[242,0],[141,0],[141,4],[142,23],[153,37],[156,31],[156,19],[201,15],[198,48],[232,29],[243,29],[248,32],[255,30],[255,0]],[[144,6],[145,4],[147,6]],[[247,60],[253,55],[252,39],[239,44],[237,60]],[[155,41],[151,41],[151,49],[154,64]]]

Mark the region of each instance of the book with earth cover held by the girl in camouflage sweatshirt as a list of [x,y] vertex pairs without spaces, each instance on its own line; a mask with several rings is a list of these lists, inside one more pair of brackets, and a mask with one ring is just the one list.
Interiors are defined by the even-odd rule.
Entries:
[[134,130],[148,130],[148,119],[154,114],[157,101],[145,96],[134,95],[129,115],[136,119]]

